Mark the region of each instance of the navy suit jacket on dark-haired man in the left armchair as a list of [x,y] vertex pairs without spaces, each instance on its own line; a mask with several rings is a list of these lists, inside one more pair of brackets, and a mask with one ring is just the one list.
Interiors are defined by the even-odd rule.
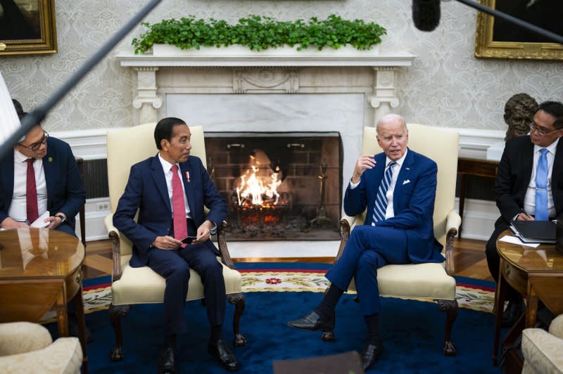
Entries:
[[[184,189],[188,197],[191,218],[196,227],[208,219],[219,226],[227,214],[227,204],[215,188],[201,160],[189,156],[179,164]],[[186,179],[189,172],[190,181]],[[203,207],[208,207],[205,217]],[[139,219],[134,221],[139,209]],[[138,162],[131,167],[129,181],[121,196],[118,209],[113,214],[113,225],[133,243],[133,255],[129,264],[145,266],[146,255],[157,236],[170,235],[172,231],[172,207],[166,186],[166,179],[158,155]],[[211,240],[203,243],[219,254]]]

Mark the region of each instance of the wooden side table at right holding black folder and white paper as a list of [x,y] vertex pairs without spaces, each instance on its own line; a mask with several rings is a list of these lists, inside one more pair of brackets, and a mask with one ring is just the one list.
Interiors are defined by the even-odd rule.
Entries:
[[[563,312],[563,252],[555,244],[542,244],[539,247],[526,247],[500,241],[504,236],[512,236],[507,230],[497,240],[500,255],[500,271],[495,292],[495,341],[493,344],[493,365],[497,364],[500,321],[502,319],[507,285],[511,285],[521,295],[528,296],[526,314],[512,327],[505,342],[514,339],[524,328],[536,324],[538,300],[541,299],[552,312]],[[503,344],[505,343],[503,342]]]

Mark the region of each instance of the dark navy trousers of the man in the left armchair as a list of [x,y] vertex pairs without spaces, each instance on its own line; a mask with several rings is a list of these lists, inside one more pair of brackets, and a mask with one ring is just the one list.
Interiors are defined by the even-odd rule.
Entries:
[[[190,220],[189,220],[190,221]],[[190,235],[195,235],[189,224]],[[194,269],[203,282],[203,295],[210,325],[222,325],[225,313],[223,269],[215,253],[206,243],[187,245],[178,250],[148,250],[148,266],[166,280],[164,291],[165,334],[186,333],[184,306],[188,294],[189,269]]]

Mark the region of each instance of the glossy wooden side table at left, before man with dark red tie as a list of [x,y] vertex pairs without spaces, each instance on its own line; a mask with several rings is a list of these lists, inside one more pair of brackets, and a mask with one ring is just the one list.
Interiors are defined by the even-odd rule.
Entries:
[[74,236],[48,228],[0,231],[1,322],[38,322],[56,309],[58,335],[68,336],[68,300],[76,305],[78,333],[88,371],[82,302],[84,245]]

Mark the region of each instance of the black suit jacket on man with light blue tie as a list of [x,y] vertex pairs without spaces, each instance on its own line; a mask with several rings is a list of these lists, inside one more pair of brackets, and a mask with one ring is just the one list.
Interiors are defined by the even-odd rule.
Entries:
[[[533,143],[530,136],[519,136],[506,142],[495,178],[495,197],[500,218],[498,224],[509,224],[522,211],[533,170]],[[559,140],[551,173],[551,192],[555,212],[563,212],[563,141]]]

